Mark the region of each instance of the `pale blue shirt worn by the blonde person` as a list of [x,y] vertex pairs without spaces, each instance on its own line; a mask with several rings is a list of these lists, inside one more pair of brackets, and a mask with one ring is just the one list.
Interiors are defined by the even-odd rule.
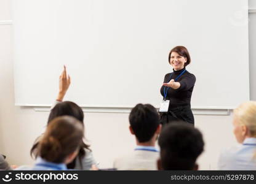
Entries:
[[220,170],[256,170],[256,138],[223,151],[218,160]]

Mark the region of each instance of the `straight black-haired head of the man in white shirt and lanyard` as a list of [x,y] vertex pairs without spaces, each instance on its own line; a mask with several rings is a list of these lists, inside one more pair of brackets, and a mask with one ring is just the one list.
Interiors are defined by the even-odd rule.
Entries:
[[161,126],[159,114],[150,104],[137,104],[130,112],[129,121],[130,132],[140,143],[150,141]]

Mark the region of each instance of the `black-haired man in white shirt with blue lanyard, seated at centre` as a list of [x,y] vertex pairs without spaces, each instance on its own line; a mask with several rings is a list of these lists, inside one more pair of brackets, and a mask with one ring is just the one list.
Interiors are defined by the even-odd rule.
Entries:
[[131,153],[114,160],[118,170],[157,170],[159,151],[155,148],[161,131],[160,118],[150,104],[137,104],[129,115],[130,133],[135,135],[137,147]]

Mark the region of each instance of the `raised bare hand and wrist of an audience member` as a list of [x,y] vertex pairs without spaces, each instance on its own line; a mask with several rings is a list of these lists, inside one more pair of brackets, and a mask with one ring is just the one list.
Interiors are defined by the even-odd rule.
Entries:
[[62,101],[66,91],[68,91],[68,88],[70,86],[71,80],[70,80],[70,75],[66,74],[66,66],[64,66],[64,69],[62,71],[62,74],[60,75],[60,80],[58,82],[58,86],[59,86],[59,91],[58,91],[58,97],[57,97],[57,101]]

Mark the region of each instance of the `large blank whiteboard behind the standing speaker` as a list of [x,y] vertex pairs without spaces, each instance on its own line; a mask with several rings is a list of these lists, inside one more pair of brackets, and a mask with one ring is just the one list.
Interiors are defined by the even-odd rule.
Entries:
[[196,75],[193,108],[249,100],[244,0],[13,0],[15,105],[47,106],[63,64],[83,107],[159,107],[171,48]]

